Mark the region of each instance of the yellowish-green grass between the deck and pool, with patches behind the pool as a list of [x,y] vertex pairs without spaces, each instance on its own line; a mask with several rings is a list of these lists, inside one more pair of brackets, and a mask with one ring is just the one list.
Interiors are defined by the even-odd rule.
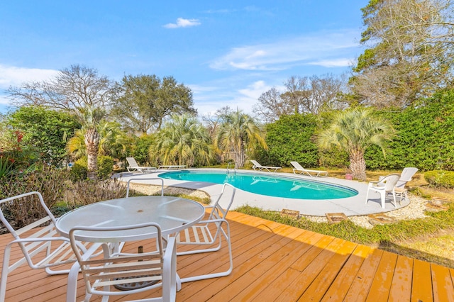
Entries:
[[[292,172],[291,169],[283,170]],[[399,171],[367,172],[367,181],[391,173]],[[330,170],[329,175],[344,178],[345,171]],[[454,268],[454,191],[428,186],[421,173],[414,176],[409,186],[411,194],[448,201],[450,208],[448,211],[428,212],[428,218],[400,220],[397,223],[375,225],[372,229],[362,228],[349,220],[331,224],[316,223],[306,218],[281,217],[280,213],[250,206],[237,208],[236,211]]]

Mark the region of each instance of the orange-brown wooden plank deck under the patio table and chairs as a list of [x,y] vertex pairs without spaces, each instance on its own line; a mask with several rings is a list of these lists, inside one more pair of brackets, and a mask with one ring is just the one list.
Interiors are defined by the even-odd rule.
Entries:
[[[454,301],[454,269],[241,213],[230,212],[228,218],[233,273],[184,283],[177,301]],[[0,236],[1,259],[9,240],[10,235]],[[177,267],[184,277],[227,262],[226,252],[211,252],[178,257]],[[66,275],[48,276],[23,266],[9,275],[6,301],[65,301],[66,283]],[[82,301],[82,280],[78,285]]]

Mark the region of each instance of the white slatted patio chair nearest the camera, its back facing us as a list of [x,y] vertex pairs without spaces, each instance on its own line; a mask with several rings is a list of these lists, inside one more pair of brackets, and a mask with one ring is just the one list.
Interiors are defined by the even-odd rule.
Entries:
[[[75,236],[77,236],[77,232],[79,231],[89,231],[92,234],[102,233],[100,237],[106,237],[106,233],[109,232],[137,228],[156,229],[157,250],[136,254],[105,252],[104,257],[95,259],[92,257],[92,249],[83,253],[77,248]],[[94,235],[94,237],[96,237],[96,235]],[[94,294],[103,296],[102,301],[107,301],[109,296],[123,296],[140,293],[150,289],[156,289],[158,286],[162,286],[162,296],[138,301],[175,301],[177,295],[177,254],[175,237],[168,238],[167,245],[164,249],[162,245],[161,228],[157,223],[143,223],[140,225],[128,225],[114,228],[77,226],[70,230],[70,242],[74,254],[77,257],[77,263],[82,271],[86,289],[85,301],[89,301],[89,298]],[[72,271],[75,272],[79,267],[74,267]],[[155,281],[162,282],[155,284]],[[146,282],[148,282],[148,285],[145,284]],[[135,283],[145,285],[138,286],[138,288],[130,289],[128,291],[111,290],[111,286]],[[73,288],[73,286],[77,287],[77,274],[70,274],[70,278],[68,279],[68,293],[76,293],[76,289]],[[72,301],[72,298],[75,299],[75,297],[68,296],[67,300]]]

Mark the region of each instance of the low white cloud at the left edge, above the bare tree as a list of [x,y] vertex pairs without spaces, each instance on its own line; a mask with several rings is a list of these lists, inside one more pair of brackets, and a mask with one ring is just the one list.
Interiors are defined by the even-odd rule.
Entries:
[[23,68],[0,65],[0,89],[18,86],[24,82],[45,81],[55,77],[58,71],[53,69]]

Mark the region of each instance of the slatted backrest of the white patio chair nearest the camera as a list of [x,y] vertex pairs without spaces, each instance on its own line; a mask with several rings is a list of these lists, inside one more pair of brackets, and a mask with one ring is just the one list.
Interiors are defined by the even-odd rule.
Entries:
[[[99,233],[100,237],[109,237],[109,235],[106,234],[115,233],[120,230],[132,230],[138,228],[149,228],[150,230],[146,230],[146,232],[156,233],[156,244],[150,244],[147,245],[147,247],[155,246],[157,250],[138,254],[114,253],[112,255],[104,255],[103,258],[93,258],[90,257],[89,253],[84,254],[77,248],[77,232],[89,231],[90,234],[93,234],[95,237],[96,233]],[[84,284],[88,293],[123,295],[144,291],[146,288],[118,293],[118,291],[106,290],[104,286],[125,283],[134,284],[141,282],[150,282],[151,286],[151,284],[154,284],[151,283],[151,281],[162,280],[163,269],[165,269],[164,249],[162,246],[161,228],[157,223],[143,223],[139,225],[126,225],[123,227],[113,228],[76,226],[70,230],[70,242],[74,254],[77,257],[77,261],[80,264]],[[127,282],[125,279],[127,279]]]

